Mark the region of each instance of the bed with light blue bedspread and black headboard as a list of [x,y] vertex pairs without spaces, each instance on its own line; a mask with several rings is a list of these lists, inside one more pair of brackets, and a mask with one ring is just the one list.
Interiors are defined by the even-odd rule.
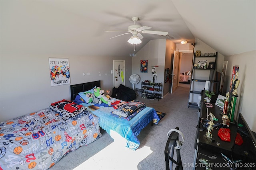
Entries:
[[[75,102],[81,98],[79,92],[87,92],[95,87],[100,87],[100,80],[95,82],[88,82],[83,84],[71,85],[71,98]],[[118,104],[122,100],[115,99],[114,104]],[[113,116],[111,111],[114,110],[112,105],[106,104],[87,104],[86,102],[80,103],[87,107],[94,115],[100,118],[100,127],[104,129],[110,136],[118,134],[126,141],[126,147],[136,150],[140,145],[140,141],[137,136],[140,131],[146,127],[150,122],[158,124],[160,118],[156,111],[152,107],[145,107],[142,111],[138,112],[132,119],[122,119],[120,117]],[[113,138],[113,137],[112,137]]]

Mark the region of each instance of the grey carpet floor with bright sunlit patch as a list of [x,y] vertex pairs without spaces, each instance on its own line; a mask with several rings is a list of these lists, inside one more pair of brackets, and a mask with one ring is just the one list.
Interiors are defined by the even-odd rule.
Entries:
[[158,125],[145,127],[138,135],[140,147],[130,150],[122,139],[112,139],[101,130],[102,137],[87,146],[80,147],[60,159],[49,170],[164,170],[164,147],[167,132],[179,127],[184,134],[184,144],[180,149],[184,170],[194,161],[194,141],[198,122],[198,109],[188,107],[189,86],[178,86],[173,94],[158,100],[137,97],[148,107],[166,113]]

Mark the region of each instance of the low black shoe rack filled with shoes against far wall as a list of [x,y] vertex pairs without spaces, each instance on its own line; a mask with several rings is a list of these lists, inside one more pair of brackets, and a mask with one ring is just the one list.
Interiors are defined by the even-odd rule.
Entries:
[[141,94],[140,97],[145,97],[147,99],[161,99],[162,96],[162,83],[153,82],[141,82]]

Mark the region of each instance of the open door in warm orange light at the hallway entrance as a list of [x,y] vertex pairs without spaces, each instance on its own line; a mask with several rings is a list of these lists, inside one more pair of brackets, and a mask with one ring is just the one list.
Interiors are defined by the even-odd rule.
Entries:
[[172,88],[171,93],[173,93],[177,86],[179,80],[179,62],[180,62],[180,52],[174,51],[173,65],[172,65]]

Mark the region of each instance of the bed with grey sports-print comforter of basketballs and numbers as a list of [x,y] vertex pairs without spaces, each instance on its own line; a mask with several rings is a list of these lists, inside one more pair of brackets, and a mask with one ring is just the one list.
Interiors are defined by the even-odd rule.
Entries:
[[99,117],[86,108],[66,114],[53,107],[0,122],[0,170],[47,170],[100,138]]

